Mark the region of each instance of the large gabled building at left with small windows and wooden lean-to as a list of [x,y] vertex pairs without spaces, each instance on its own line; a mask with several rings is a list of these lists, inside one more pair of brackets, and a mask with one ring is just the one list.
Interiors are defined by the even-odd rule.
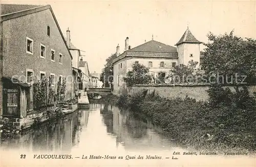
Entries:
[[51,6],[2,4],[1,9],[1,115],[23,117],[33,110],[31,78],[50,77],[54,90],[66,78],[70,99],[72,55]]

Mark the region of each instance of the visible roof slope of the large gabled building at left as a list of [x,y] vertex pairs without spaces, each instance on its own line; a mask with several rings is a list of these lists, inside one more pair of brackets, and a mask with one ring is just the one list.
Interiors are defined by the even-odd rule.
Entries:
[[39,5],[1,4],[1,15],[41,7]]

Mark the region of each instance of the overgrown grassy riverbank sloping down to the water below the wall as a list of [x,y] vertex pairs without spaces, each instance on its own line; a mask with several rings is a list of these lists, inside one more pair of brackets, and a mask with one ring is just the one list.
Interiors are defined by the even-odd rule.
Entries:
[[130,97],[109,95],[101,101],[150,118],[185,148],[215,152],[256,151],[255,108],[211,107],[195,99],[166,99],[142,91]]

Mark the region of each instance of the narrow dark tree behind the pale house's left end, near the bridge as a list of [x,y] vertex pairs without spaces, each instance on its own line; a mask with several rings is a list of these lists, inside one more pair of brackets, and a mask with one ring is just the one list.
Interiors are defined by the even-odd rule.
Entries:
[[[113,82],[113,66],[112,62],[116,58],[116,54],[112,54],[110,57],[106,59],[105,67],[101,70],[100,74],[100,81],[104,83],[104,80],[106,81],[104,85],[105,87],[109,87],[109,82]],[[105,79],[104,79],[105,76]]]

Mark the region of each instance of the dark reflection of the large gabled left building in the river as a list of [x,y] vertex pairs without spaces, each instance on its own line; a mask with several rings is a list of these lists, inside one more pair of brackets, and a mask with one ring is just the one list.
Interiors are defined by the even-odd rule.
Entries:
[[78,112],[74,112],[57,122],[48,122],[18,134],[15,138],[9,138],[1,143],[1,147],[33,152],[70,153],[72,146],[79,142],[77,125]]

